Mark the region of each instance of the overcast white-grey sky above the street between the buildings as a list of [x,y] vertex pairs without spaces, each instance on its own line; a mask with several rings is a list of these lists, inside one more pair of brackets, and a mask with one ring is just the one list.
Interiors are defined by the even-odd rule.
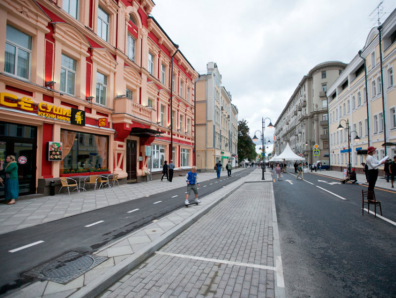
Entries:
[[[349,63],[363,48],[379,0],[154,0],[152,16],[199,74],[216,62],[253,137],[274,124],[303,75]],[[381,20],[395,9],[384,0]],[[265,126],[268,125],[268,120]],[[273,129],[265,129],[273,140]],[[258,134],[259,137],[259,134]],[[260,140],[259,142],[260,143]],[[272,149],[270,146],[269,150]]]

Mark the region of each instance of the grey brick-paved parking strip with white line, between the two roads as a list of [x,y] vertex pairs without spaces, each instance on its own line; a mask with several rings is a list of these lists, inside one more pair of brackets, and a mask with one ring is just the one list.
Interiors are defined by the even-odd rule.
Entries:
[[284,297],[283,287],[272,183],[258,182],[242,185],[99,297]]

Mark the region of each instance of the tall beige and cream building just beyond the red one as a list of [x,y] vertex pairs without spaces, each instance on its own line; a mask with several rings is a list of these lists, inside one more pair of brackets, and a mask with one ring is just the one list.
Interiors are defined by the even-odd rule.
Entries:
[[221,85],[217,64],[209,62],[196,82],[196,165],[213,169],[217,161],[238,162],[238,109]]

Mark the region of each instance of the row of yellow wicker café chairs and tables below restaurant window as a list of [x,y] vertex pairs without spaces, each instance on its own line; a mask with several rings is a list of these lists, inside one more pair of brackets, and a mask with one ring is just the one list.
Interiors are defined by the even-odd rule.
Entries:
[[[77,191],[88,191],[88,190],[100,190],[104,187],[115,187],[116,184],[120,186],[118,182],[118,174],[102,174],[102,175],[81,175],[70,177],[61,177],[61,188],[58,194],[61,193],[62,189],[66,188],[68,194],[70,192]],[[81,186],[82,185],[82,186]],[[64,190],[65,192],[66,190]]]

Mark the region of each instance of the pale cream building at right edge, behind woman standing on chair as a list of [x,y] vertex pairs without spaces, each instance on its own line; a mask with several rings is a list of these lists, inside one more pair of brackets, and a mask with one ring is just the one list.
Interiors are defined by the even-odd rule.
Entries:
[[[366,156],[358,155],[357,150],[374,146],[377,148],[378,159],[385,155],[391,158],[396,155],[395,146],[382,146],[385,142],[396,143],[393,71],[396,67],[396,10],[381,26],[382,63],[379,37],[379,28],[372,28],[361,52],[357,53],[327,91],[332,169],[347,168],[348,150],[351,166],[361,173],[361,163],[365,162]],[[349,122],[349,133],[346,122]],[[342,130],[337,129],[340,124]],[[360,139],[354,140],[356,136]]]

